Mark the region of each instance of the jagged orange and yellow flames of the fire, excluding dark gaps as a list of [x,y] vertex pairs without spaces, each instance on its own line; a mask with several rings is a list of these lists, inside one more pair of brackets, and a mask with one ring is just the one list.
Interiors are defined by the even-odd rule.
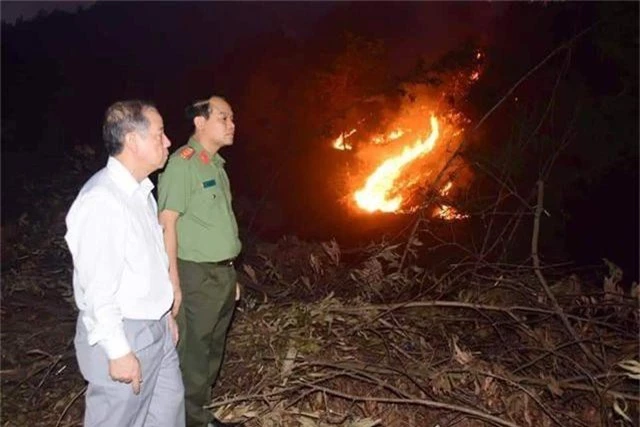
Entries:
[[[411,212],[417,209],[416,206],[405,206],[409,203],[407,199],[411,195],[417,196],[417,188],[425,185],[434,185],[433,177],[431,177],[432,169],[437,168],[437,164],[444,161],[449,153],[454,152],[461,140],[457,138],[464,132],[465,124],[469,120],[463,113],[453,110],[453,102],[459,98],[464,98],[468,92],[470,85],[476,83],[483,74],[484,53],[477,50],[473,53],[475,61],[465,70],[460,70],[452,74],[443,87],[443,91],[438,95],[432,93],[430,88],[425,88],[420,84],[408,85],[407,90],[414,96],[411,104],[405,104],[401,113],[396,117],[394,123],[395,130],[387,130],[368,138],[368,141],[358,143],[355,157],[369,164],[373,161],[382,161],[381,164],[371,173],[364,182],[364,185],[353,193],[351,197],[356,202],[356,206],[366,212]],[[423,102],[415,102],[420,99]],[[434,114],[431,115],[431,133],[428,137],[420,136],[413,144],[408,144],[402,149],[400,154],[389,156],[389,151],[380,145],[389,144],[394,140],[403,138],[405,142],[416,135],[410,128],[418,126],[422,128],[424,122],[425,111],[440,111],[440,118],[437,120]],[[419,124],[417,124],[417,122]],[[439,123],[440,121],[440,123]],[[358,124],[364,122],[360,120]],[[352,146],[346,139],[355,132],[353,129],[348,134],[341,134],[334,142],[333,146],[339,150],[351,150]],[[447,146],[436,147],[436,143],[441,137],[446,141]],[[423,134],[420,134],[423,135]],[[363,135],[362,135],[363,136]],[[362,140],[363,138],[360,138]],[[397,143],[396,143],[397,144]],[[355,146],[355,144],[354,144]],[[389,144],[391,146],[391,144]],[[433,151],[433,153],[431,153]],[[424,160],[424,166],[419,168],[418,162],[414,166],[410,166],[419,157],[431,153],[429,159]],[[380,158],[383,160],[380,160]],[[420,163],[422,164],[422,163]],[[448,164],[448,163],[447,163]],[[358,173],[359,175],[359,173]],[[359,178],[358,178],[359,179]],[[349,179],[349,181],[352,181]],[[349,191],[353,191],[349,183]],[[440,195],[443,198],[449,196],[449,192],[453,186],[453,182],[446,183],[440,189]],[[358,187],[356,187],[358,188]],[[458,220],[468,218],[469,215],[459,213],[455,208],[445,204],[439,204],[433,216],[444,220]]]

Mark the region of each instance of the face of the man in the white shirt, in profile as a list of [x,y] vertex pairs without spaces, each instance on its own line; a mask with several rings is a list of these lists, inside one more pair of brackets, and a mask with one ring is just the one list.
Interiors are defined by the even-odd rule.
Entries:
[[138,157],[153,172],[161,169],[169,157],[171,141],[164,133],[164,123],[160,114],[153,109],[144,112],[149,121],[147,132],[136,132],[138,136]]

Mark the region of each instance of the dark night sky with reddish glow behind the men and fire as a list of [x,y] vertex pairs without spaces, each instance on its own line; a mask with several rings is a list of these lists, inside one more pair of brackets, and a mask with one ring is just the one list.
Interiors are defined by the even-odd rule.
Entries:
[[[46,10],[38,14],[41,6]],[[637,3],[3,1],[1,7],[3,224],[35,202],[24,183],[64,173],[74,146],[103,155],[100,123],[112,102],[154,101],[175,149],[190,131],[184,106],[217,93],[237,117],[236,143],[222,154],[246,211],[239,212],[241,226],[257,212],[258,237],[269,239],[339,237],[358,227],[340,222],[336,177],[344,165],[325,142],[350,115],[378,113],[367,110],[366,100],[395,105],[400,83],[424,77],[418,64],[435,64],[465,44],[486,52],[485,74],[456,100],[473,127],[549,52],[595,25],[575,44],[562,79],[559,55],[511,94],[519,97],[517,108],[498,108],[468,138],[473,155],[497,153],[523,118],[542,114],[557,86],[541,135],[560,138],[574,113],[578,125],[549,181],[549,209],[563,218],[552,227],[550,253],[561,247],[554,255],[585,264],[608,257],[637,278]],[[461,69],[450,58],[447,72]],[[327,86],[331,77],[349,75],[340,74],[344,67],[360,77],[339,90]],[[521,159],[523,193],[543,151]]]

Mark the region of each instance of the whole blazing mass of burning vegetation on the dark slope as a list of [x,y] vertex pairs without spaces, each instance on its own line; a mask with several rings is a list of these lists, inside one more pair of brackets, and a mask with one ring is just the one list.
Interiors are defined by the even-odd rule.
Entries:
[[[463,60],[453,61],[454,57]],[[437,187],[444,197],[454,185],[454,176],[458,181],[468,179],[468,168],[455,154],[469,119],[455,103],[456,99],[463,102],[469,86],[479,79],[482,60],[478,47],[465,46],[433,67],[419,62],[411,79],[398,88],[399,107],[388,111],[385,120],[376,121],[373,133],[359,131],[360,124],[371,121],[372,114],[363,114],[332,142],[336,150],[355,153],[359,163],[355,171],[349,169],[346,179],[346,188],[353,193],[352,208],[370,213],[411,212],[419,208],[417,193],[424,195],[425,188]],[[446,205],[437,207],[434,214],[444,219],[465,217]]]

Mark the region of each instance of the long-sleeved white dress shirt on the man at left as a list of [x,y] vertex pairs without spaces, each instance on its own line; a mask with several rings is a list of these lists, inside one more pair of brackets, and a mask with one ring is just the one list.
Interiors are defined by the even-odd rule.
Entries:
[[122,319],[160,319],[173,302],[169,261],[148,178],[117,159],[82,187],[67,214],[73,291],[89,344],[109,359],[131,351]]

